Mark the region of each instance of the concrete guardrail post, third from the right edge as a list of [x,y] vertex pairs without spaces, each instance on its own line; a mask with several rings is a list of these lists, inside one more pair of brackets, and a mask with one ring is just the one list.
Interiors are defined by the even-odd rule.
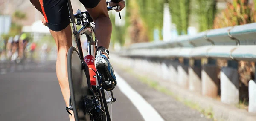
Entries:
[[218,96],[220,82],[217,78],[217,66],[213,60],[208,61],[208,64],[202,67],[202,95],[215,98]]

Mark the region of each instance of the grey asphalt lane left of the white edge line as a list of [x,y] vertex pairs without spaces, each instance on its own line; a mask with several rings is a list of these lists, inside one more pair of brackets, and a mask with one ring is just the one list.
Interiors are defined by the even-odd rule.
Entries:
[[[0,69],[0,121],[68,121],[55,62],[30,63],[21,70],[18,67],[22,68],[12,65]],[[118,99],[112,107],[113,121],[143,121],[118,88],[113,92]]]

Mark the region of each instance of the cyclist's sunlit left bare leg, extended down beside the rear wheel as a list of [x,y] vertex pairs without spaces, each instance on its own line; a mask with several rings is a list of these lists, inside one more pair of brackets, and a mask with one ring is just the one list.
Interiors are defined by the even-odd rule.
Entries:
[[[70,25],[61,31],[50,30],[55,43],[57,45],[57,62],[56,62],[56,73],[57,78],[61,87],[61,92],[66,102],[66,106],[69,105],[70,90],[67,76],[67,52],[72,46],[72,34]],[[70,111],[72,114],[73,112]],[[70,121],[75,121],[73,116],[70,116]]]

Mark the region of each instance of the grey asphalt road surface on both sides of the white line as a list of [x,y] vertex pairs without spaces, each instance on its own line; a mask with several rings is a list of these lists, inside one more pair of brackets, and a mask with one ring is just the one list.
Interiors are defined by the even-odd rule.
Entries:
[[[201,114],[175,99],[137,82],[116,69],[166,121],[206,121]],[[119,90],[114,91],[113,121],[144,121],[137,107]],[[136,99],[134,99],[136,100]],[[55,73],[55,61],[0,64],[0,121],[68,121]],[[148,114],[151,115],[151,114]]]

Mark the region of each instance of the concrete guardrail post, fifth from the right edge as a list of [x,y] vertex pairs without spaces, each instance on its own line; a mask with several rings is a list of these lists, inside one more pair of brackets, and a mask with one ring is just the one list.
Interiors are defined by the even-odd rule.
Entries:
[[184,64],[178,65],[178,85],[188,89],[189,87],[189,75],[188,75],[188,61],[184,59]]

